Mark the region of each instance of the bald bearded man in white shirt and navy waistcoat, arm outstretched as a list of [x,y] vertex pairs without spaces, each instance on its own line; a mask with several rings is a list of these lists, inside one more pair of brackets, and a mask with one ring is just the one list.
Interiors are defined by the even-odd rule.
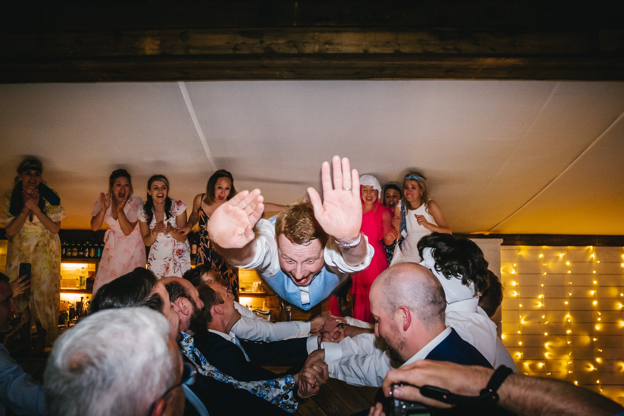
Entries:
[[[341,342],[343,357],[327,363],[330,377],[380,386],[388,370],[421,359],[492,368],[446,325],[444,289],[426,267],[416,263],[389,267],[374,281],[369,296],[375,334],[346,337]],[[310,354],[312,359],[324,360],[324,356],[323,350]]]

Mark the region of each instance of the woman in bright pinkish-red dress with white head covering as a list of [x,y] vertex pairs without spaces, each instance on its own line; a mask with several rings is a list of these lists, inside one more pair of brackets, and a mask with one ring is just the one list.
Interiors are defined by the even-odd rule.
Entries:
[[[388,268],[383,239],[386,233],[392,231],[392,211],[387,206],[381,205],[379,201],[381,186],[375,177],[363,175],[359,178],[359,185],[362,196],[361,230],[368,238],[368,243],[375,249],[375,254],[371,259],[371,264],[366,269],[351,273],[353,317],[372,323],[371,302],[368,299],[368,294],[371,291],[371,284],[379,276],[379,273]],[[329,302],[329,311],[336,316],[341,316],[335,296]]]

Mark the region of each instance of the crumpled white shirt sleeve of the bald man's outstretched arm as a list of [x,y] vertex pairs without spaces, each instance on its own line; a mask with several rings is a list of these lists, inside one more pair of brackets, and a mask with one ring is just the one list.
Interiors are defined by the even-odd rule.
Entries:
[[380,387],[392,366],[383,341],[373,334],[346,337],[340,342],[343,357],[327,362],[329,377],[354,385]]

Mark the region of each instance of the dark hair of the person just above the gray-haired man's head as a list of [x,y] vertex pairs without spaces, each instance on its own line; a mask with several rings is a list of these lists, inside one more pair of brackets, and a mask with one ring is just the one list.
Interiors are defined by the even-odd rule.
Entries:
[[147,306],[162,312],[162,297],[153,293],[157,282],[152,271],[137,267],[102,286],[93,296],[89,313],[132,306]]

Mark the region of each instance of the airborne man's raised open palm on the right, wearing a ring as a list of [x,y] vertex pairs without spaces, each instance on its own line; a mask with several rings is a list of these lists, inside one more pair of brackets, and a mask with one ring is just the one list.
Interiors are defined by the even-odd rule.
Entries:
[[321,166],[323,202],[314,188],[308,188],[314,207],[314,217],[323,231],[341,243],[353,243],[358,239],[362,225],[362,201],[359,196],[357,170],[351,170],[349,159],[334,156],[331,160],[334,170],[333,186],[329,176],[329,163]]

